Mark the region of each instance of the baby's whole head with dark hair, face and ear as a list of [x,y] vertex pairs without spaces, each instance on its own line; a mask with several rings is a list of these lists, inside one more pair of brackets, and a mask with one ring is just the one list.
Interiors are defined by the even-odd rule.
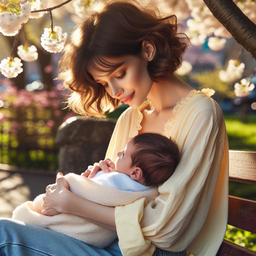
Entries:
[[117,153],[116,171],[143,185],[157,186],[172,176],[180,150],[176,142],[160,133],[141,133]]

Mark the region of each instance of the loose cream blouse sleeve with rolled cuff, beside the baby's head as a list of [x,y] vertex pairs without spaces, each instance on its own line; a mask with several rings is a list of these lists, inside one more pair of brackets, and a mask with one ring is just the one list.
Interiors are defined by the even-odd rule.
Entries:
[[[182,150],[182,157],[172,177],[159,186],[159,196],[149,204],[146,199],[140,199],[116,207],[117,234],[123,255],[152,255],[153,244],[168,251],[191,249],[192,245],[196,255],[214,255],[203,253],[216,249],[211,247],[214,239],[217,243],[223,239],[227,219],[228,147],[225,155],[227,140],[221,110],[215,106],[198,111],[193,117],[181,118],[172,136]],[[224,172],[222,179],[218,178],[220,170]],[[224,195],[215,193],[218,186],[220,191],[225,187]],[[202,235],[204,226],[211,228],[210,237]],[[200,242],[194,243],[199,234]],[[207,240],[211,241],[210,245]]]

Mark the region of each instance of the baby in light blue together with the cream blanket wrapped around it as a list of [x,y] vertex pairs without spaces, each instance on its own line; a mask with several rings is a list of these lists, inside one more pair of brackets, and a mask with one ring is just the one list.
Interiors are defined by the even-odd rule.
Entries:
[[[94,178],[74,173],[65,175],[69,189],[76,195],[106,206],[120,206],[146,197],[154,200],[157,185],[165,182],[180,160],[177,144],[158,133],[142,133],[132,138],[123,151],[117,153],[115,168],[110,173],[98,172]],[[117,233],[86,221],[84,218],[60,213],[41,214],[42,197],[18,206],[13,219],[59,231],[88,245],[105,248]]]

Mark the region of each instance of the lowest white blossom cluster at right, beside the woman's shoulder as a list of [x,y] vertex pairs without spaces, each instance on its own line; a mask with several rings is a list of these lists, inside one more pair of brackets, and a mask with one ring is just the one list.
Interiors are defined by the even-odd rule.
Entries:
[[219,71],[219,79],[223,82],[232,82],[242,77],[245,65],[238,60],[229,60],[226,70]]

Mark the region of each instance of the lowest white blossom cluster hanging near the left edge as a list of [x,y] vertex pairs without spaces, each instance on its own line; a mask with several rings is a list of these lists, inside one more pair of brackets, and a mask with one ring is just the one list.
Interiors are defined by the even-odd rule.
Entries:
[[14,59],[7,57],[7,59],[1,60],[0,71],[7,78],[15,78],[23,71],[21,60],[18,57]]

